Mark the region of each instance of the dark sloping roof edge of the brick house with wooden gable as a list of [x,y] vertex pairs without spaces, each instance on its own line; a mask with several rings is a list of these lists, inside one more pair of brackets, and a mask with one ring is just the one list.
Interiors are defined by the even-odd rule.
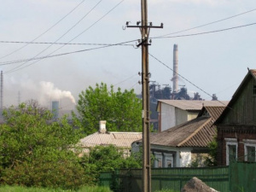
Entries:
[[234,95],[232,96],[227,108],[224,109],[224,112],[219,116],[219,118],[215,121],[214,125],[217,125],[218,123],[220,123],[222,121],[222,119],[224,119],[224,116],[226,115],[226,113],[229,112],[230,108],[232,108],[233,104],[236,102],[238,96],[241,94],[241,90],[243,90],[243,87],[245,86],[245,84],[247,84],[247,81],[252,78],[256,80],[256,69],[248,69],[248,73],[245,76],[245,78],[241,81],[241,84],[239,85],[239,87],[237,88],[236,92],[234,93]]

